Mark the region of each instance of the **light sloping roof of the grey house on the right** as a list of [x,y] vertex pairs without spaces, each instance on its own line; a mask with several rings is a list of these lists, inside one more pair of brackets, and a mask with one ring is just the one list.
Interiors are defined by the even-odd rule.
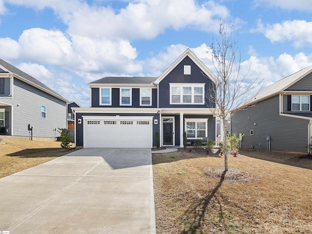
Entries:
[[249,105],[254,104],[255,102],[259,102],[261,100],[271,98],[279,94],[280,92],[286,90],[287,88],[289,88],[294,83],[298,82],[300,79],[304,78],[311,72],[312,72],[312,65],[298,72],[295,72],[286,78],[280,79],[277,82],[261,89],[255,96],[253,96],[252,98],[249,98],[249,100],[247,100],[246,102],[241,103],[235,109],[237,109],[238,107],[242,107],[242,106],[249,106]]

